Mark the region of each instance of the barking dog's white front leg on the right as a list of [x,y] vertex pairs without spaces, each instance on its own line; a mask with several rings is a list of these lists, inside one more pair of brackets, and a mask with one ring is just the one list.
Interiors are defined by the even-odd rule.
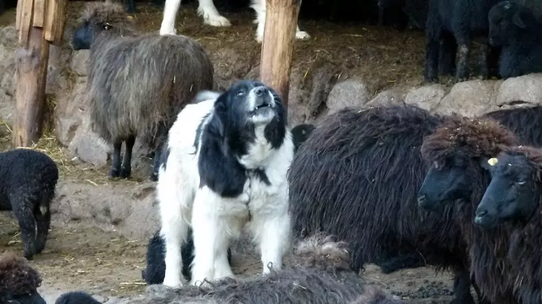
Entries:
[[261,262],[263,274],[269,273],[271,262],[275,270],[282,269],[282,258],[288,250],[291,235],[291,218],[288,214],[261,218],[261,223],[252,226],[255,235],[260,236]]

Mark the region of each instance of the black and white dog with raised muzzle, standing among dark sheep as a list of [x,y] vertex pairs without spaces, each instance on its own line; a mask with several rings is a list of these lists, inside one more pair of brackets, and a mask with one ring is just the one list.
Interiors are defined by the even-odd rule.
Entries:
[[199,93],[169,130],[157,200],[166,243],[164,285],[183,285],[181,244],[194,237],[191,284],[233,277],[227,250],[245,225],[261,248],[263,273],[282,268],[291,240],[286,173],[291,131],[277,93],[239,81]]

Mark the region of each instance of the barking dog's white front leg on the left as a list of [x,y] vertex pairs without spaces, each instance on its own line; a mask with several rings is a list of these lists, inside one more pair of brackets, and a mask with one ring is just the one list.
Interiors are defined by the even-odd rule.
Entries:
[[194,233],[194,262],[192,264],[192,282],[190,284],[205,284],[205,280],[215,278],[216,244],[220,237],[219,195],[213,193],[207,186],[196,192],[192,209],[192,231]]

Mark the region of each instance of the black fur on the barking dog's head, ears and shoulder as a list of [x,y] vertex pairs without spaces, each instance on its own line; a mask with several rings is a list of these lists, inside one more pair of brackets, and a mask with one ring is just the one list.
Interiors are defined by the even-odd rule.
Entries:
[[[222,93],[216,102],[212,117],[201,136],[198,168],[200,186],[206,185],[224,197],[240,195],[247,180],[247,170],[238,158],[247,155],[249,145],[256,140],[255,126],[248,120],[246,98],[252,88],[263,86],[258,81],[238,81]],[[265,126],[264,136],[274,149],[279,148],[286,136],[285,111],[282,101],[274,95],[274,119]],[[266,184],[267,176],[257,173]],[[267,181],[267,182],[266,182]]]

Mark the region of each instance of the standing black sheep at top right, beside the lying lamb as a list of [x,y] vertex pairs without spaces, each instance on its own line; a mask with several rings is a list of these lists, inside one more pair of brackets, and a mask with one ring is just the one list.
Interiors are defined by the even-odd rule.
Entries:
[[[453,35],[457,43],[456,81],[465,79],[471,40],[481,36],[483,78],[489,77],[490,66],[497,65],[497,49],[487,41],[488,12],[500,0],[429,0],[426,19],[426,81],[438,81],[438,59],[441,40]],[[495,63],[493,63],[495,61]]]

